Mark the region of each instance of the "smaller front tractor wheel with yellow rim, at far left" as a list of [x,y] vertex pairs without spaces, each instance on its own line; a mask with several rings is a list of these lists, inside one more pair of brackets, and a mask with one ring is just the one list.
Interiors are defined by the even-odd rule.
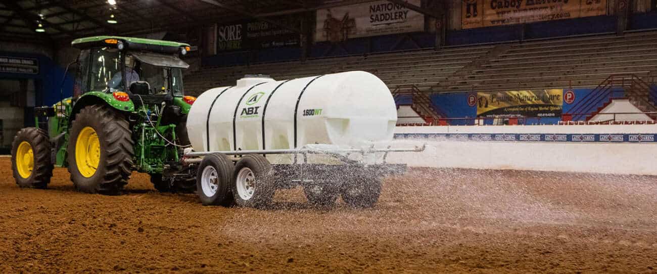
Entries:
[[51,145],[43,129],[20,129],[11,144],[11,170],[19,187],[45,189],[53,177]]

